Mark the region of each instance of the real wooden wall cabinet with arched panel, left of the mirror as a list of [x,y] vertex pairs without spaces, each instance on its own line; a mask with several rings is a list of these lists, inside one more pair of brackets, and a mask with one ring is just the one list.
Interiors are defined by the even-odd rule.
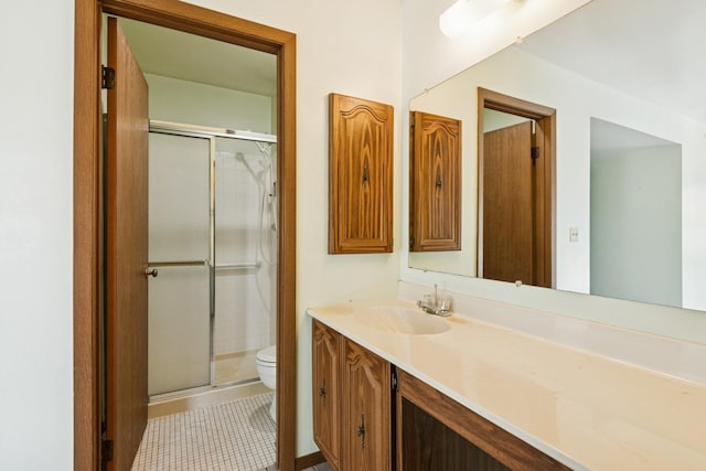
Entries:
[[391,105],[329,96],[329,253],[393,251]]

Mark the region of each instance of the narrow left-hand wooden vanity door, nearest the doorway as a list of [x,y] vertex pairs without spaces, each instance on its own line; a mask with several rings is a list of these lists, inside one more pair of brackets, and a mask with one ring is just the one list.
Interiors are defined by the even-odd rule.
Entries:
[[338,469],[341,335],[315,319],[312,334],[313,439],[329,464]]

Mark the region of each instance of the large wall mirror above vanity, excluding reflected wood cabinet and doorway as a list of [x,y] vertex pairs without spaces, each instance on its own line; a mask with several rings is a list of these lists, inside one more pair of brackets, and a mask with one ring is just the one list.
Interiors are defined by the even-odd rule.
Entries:
[[415,97],[410,110],[462,121],[462,226],[460,250],[410,253],[409,266],[483,272],[490,89],[556,110],[552,288],[706,310],[704,19],[703,0],[592,0]]

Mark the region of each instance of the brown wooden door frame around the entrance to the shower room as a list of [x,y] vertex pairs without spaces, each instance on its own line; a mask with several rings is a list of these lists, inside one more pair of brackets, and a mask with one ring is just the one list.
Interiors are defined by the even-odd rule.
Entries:
[[277,463],[296,468],[296,35],[178,0],[75,0],[74,469],[100,465],[100,22],[113,13],[277,55]]

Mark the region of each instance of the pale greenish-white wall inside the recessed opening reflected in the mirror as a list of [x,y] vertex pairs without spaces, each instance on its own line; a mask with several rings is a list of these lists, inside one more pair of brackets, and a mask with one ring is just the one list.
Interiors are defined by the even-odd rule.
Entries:
[[682,306],[682,147],[591,150],[590,292]]

